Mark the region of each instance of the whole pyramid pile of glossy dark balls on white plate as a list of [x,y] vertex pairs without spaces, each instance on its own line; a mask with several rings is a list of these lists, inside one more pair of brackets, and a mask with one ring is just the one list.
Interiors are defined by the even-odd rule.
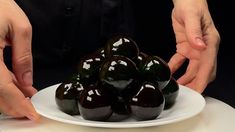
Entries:
[[78,72],[58,86],[55,99],[61,111],[86,120],[108,121],[114,114],[152,120],[175,104],[178,92],[163,59],[119,35],[81,58]]

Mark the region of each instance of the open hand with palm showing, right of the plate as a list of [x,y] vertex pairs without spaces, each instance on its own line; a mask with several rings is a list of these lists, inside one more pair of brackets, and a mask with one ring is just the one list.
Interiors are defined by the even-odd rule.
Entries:
[[202,93],[216,77],[220,36],[206,0],[174,0],[172,24],[176,53],[169,61],[174,73],[189,59],[187,70],[177,81]]

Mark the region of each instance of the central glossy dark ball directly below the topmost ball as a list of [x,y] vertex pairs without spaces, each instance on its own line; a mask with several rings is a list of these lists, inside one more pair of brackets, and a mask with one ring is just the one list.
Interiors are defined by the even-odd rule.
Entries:
[[135,63],[124,56],[113,56],[107,59],[100,70],[101,82],[120,93],[135,80],[137,68]]

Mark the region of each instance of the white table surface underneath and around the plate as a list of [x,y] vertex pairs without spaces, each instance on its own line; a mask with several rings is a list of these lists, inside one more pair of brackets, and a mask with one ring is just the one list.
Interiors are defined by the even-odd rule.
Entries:
[[0,132],[235,132],[235,109],[206,97],[206,106],[198,115],[173,124],[155,127],[108,129],[65,124],[45,117],[40,123],[27,119],[0,119]]

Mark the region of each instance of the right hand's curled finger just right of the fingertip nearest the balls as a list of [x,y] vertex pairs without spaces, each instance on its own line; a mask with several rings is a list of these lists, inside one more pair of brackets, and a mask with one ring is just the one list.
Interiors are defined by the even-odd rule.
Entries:
[[191,82],[198,72],[198,61],[189,61],[188,68],[183,76],[177,82],[181,85],[186,85]]

